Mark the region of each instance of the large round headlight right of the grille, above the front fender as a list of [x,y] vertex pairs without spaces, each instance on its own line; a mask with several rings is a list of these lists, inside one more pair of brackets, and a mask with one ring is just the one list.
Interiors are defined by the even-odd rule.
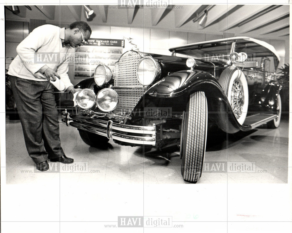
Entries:
[[150,56],[143,57],[137,66],[136,75],[142,85],[149,85],[161,74],[159,63]]

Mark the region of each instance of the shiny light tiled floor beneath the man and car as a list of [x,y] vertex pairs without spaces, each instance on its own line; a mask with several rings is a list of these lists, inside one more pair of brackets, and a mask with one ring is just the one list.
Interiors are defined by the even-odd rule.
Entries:
[[[284,114],[283,114],[284,115]],[[120,146],[109,141],[107,149],[92,148],[80,138],[76,128],[60,125],[62,148],[68,157],[79,165],[86,163],[87,172],[72,169],[63,173],[50,162],[51,171],[39,172],[27,154],[20,121],[6,118],[6,183],[37,183],[60,180],[66,183],[115,183],[115,184],[184,184],[179,151],[170,155],[154,149],[146,152],[140,147]],[[226,162],[229,163],[226,163]],[[288,175],[288,116],[283,116],[278,129],[256,130],[235,135],[208,134],[205,163],[225,162],[225,171],[203,170],[197,184],[212,183],[287,183]],[[231,163],[256,165],[256,172],[226,172]],[[64,170],[64,167],[63,167]],[[79,173],[77,173],[77,170]]]

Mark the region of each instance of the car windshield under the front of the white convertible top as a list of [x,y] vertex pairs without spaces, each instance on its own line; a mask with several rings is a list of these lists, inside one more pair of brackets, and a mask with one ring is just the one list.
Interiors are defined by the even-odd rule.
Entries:
[[178,54],[185,54],[192,56],[197,59],[204,60],[228,60],[230,54],[232,41],[222,41],[214,42],[208,44],[198,44],[193,45],[188,48],[184,48],[182,51],[180,49],[175,50]]

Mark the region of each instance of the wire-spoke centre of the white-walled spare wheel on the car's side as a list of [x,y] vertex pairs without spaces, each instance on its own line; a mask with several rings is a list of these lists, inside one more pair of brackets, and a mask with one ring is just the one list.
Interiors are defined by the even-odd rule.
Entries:
[[239,119],[239,117],[242,114],[243,104],[244,104],[243,87],[240,80],[235,79],[231,88],[230,105],[232,107],[234,115],[236,116],[236,119]]

